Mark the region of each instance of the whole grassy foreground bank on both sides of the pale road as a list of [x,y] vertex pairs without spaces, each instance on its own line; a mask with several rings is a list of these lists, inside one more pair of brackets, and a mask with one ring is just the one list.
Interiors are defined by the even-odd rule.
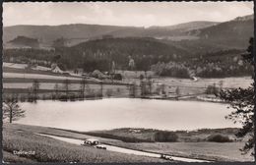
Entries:
[[[209,130],[214,134],[218,130]],[[136,156],[100,150],[87,146],[74,146],[73,144],[53,138],[40,137],[34,134],[45,134],[63,138],[97,138],[102,143],[113,144],[124,148],[144,150],[156,153],[165,153],[173,156],[198,158],[214,161],[253,161],[250,155],[241,155],[239,148],[243,141],[235,142],[124,142],[118,139],[99,138],[85,133],[55,128],[4,124],[3,149],[4,160],[12,162],[163,162],[162,159],[146,156]],[[33,156],[13,155],[13,150],[36,150]],[[76,154],[75,154],[76,153]],[[17,157],[18,156],[18,157]]]

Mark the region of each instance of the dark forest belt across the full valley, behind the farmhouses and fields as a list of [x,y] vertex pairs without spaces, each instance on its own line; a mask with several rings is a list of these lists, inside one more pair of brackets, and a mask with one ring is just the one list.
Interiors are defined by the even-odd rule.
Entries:
[[[62,70],[82,68],[90,73],[95,70],[110,71],[112,63],[117,70],[152,70],[160,76],[191,78],[223,78],[248,76],[252,67],[241,60],[241,49],[219,50],[204,54],[188,51],[154,38],[104,38],[83,42],[76,46],[58,46],[53,50],[4,49],[4,62],[37,63],[49,67],[57,63]],[[35,60],[35,62],[34,62]]]

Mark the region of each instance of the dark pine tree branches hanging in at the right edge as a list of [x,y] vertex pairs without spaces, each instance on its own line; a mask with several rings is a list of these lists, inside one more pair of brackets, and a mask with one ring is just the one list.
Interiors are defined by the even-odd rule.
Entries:
[[[242,57],[245,61],[253,65],[255,70],[253,38],[250,38],[249,43],[247,53],[243,54]],[[255,79],[255,75],[252,77]],[[243,148],[240,149],[242,154],[246,154],[254,147],[255,83],[252,83],[248,88],[239,87],[221,90],[220,97],[230,104],[228,108],[232,107],[234,109],[234,111],[225,118],[232,120],[234,123],[239,122],[242,124],[242,128],[236,134],[236,137],[244,138],[245,136],[249,136]],[[252,155],[255,155],[255,151],[252,151]]]

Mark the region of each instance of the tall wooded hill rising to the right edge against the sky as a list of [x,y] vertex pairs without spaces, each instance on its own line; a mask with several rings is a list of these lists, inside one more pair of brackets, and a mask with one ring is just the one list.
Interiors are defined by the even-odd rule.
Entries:
[[248,46],[249,38],[253,36],[253,18],[253,15],[238,17],[214,26],[185,32],[187,36],[193,36],[196,39],[175,41],[164,38],[161,41],[191,52],[196,56],[229,49],[244,50]]

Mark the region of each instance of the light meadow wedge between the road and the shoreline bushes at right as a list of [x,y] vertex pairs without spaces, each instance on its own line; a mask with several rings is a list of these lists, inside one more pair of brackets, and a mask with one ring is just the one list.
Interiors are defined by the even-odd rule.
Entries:
[[172,156],[206,159],[212,161],[253,161],[250,154],[239,151],[244,142],[139,142],[110,141],[109,144],[130,149],[159,152]]

